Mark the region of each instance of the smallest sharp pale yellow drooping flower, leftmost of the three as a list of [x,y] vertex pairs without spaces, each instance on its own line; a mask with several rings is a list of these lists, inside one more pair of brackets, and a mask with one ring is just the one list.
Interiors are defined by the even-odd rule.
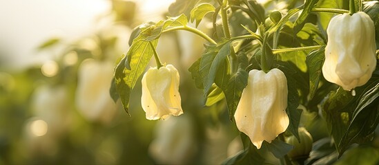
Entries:
[[165,119],[169,115],[181,115],[179,73],[173,65],[148,69],[142,78],[142,108],[146,119]]

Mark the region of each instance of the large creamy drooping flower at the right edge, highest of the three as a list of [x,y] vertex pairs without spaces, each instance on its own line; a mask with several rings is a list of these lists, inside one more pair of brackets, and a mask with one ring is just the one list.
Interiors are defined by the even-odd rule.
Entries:
[[350,91],[365,85],[376,67],[375,27],[369,15],[340,14],[329,23],[324,78]]

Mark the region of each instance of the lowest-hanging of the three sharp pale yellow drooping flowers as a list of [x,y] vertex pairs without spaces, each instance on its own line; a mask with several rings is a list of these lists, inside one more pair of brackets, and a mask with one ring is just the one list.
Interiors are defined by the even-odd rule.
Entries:
[[280,69],[268,73],[253,69],[234,114],[237,129],[249,136],[259,149],[289,126],[287,80]]

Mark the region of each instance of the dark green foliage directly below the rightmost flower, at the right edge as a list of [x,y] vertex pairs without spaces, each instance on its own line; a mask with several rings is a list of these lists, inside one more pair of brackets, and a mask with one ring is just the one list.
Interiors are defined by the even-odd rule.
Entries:
[[332,91],[323,104],[327,123],[340,155],[351,144],[372,139],[379,123],[378,83],[378,74],[373,74],[366,85],[355,89],[356,96],[338,89]]

